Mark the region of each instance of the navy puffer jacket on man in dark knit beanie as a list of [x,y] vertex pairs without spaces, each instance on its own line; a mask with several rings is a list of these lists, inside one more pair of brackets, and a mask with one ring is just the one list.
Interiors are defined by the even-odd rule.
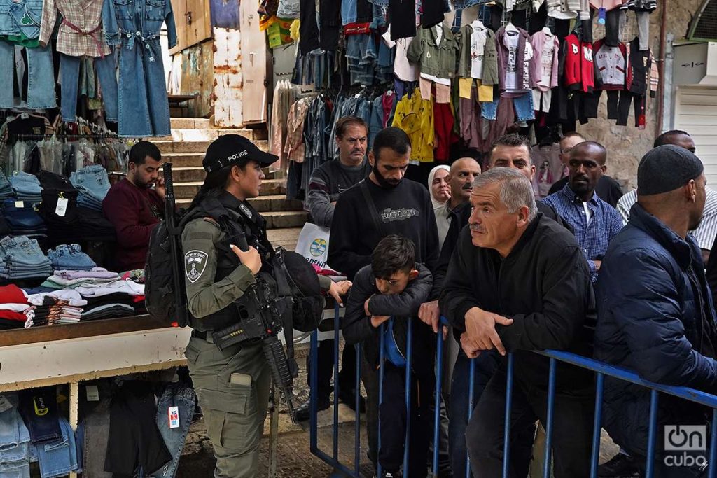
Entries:
[[[595,289],[595,358],[646,380],[717,393],[716,317],[700,248],[640,204],[614,237]],[[665,424],[705,424],[694,403],[660,394]],[[646,456],[650,390],[605,378],[603,426],[632,454]]]

